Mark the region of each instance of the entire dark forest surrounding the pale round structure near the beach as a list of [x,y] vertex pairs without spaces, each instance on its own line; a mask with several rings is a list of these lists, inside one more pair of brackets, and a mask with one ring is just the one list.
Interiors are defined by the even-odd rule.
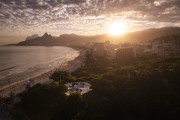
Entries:
[[[74,73],[59,71],[51,76],[56,82],[23,93],[18,106],[32,120],[180,119],[179,57],[126,64],[88,57],[86,66]],[[58,81],[59,75],[65,81]],[[63,84],[72,80],[88,81],[92,91],[65,96]]]

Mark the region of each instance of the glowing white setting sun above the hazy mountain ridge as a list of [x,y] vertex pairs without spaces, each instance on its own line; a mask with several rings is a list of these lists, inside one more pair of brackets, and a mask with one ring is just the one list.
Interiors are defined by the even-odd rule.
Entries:
[[123,23],[113,23],[108,27],[108,34],[118,36],[126,32],[126,27]]

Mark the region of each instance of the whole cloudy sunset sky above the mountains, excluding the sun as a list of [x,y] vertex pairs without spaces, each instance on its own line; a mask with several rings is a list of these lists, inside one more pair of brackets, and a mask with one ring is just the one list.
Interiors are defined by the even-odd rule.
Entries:
[[45,32],[53,36],[104,34],[180,26],[180,0],[0,0],[0,44]]

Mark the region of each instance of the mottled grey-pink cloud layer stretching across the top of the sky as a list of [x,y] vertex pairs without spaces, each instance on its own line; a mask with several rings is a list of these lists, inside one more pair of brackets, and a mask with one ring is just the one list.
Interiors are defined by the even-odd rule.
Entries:
[[[119,17],[178,23],[180,0],[0,0],[0,28],[3,26],[4,31],[4,26],[10,29],[64,21],[74,23],[79,18],[103,15],[110,16],[104,21]],[[95,22],[96,19],[92,23]]]

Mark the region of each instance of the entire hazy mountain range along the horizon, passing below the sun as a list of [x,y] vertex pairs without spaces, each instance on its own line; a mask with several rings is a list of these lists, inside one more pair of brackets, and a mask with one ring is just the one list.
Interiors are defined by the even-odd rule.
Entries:
[[71,47],[90,47],[95,42],[110,41],[117,44],[120,42],[148,43],[149,41],[180,33],[180,27],[151,28],[137,32],[131,32],[122,36],[110,36],[107,34],[95,36],[81,36],[75,34],[63,34],[59,37],[52,37],[45,33],[42,37],[26,40],[17,45],[24,46],[71,46]]

